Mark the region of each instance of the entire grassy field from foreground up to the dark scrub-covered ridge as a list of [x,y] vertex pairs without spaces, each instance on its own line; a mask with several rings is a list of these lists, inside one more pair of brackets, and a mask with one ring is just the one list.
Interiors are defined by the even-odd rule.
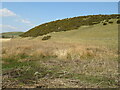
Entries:
[[118,24],[48,35],[2,42],[3,88],[118,87]]

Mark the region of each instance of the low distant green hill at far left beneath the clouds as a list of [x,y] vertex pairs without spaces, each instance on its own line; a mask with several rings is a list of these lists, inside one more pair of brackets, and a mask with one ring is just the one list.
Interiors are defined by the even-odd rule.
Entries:
[[18,37],[23,33],[24,32],[5,32],[5,33],[1,33],[0,35],[2,36],[2,38],[13,38],[13,37]]

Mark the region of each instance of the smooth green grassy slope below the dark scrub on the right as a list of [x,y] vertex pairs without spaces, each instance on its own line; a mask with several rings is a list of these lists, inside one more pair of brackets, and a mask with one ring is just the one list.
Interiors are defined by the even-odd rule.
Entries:
[[[118,43],[118,24],[113,20],[112,24],[94,26],[82,26],[71,31],[52,32],[47,35],[39,36],[37,40],[42,40],[44,36],[51,36],[50,42],[79,43],[87,45],[99,45],[117,47]],[[46,41],[47,42],[47,41]]]

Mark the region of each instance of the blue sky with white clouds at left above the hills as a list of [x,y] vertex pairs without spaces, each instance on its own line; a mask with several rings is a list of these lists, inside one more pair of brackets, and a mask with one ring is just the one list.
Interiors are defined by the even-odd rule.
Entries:
[[28,31],[54,20],[97,14],[118,14],[117,2],[2,2],[1,32]]

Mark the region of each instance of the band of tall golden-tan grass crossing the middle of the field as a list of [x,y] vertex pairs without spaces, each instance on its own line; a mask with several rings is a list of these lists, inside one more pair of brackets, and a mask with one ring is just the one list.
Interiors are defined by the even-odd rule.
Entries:
[[28,56],[54,56],[59,59],[98,58],[117,57],[117,51],[110,50],[104,46],[82,45],[74,43],[58,43],[39,40],[13,39],[10,42],[3,42],[3,57],[25,54]]

